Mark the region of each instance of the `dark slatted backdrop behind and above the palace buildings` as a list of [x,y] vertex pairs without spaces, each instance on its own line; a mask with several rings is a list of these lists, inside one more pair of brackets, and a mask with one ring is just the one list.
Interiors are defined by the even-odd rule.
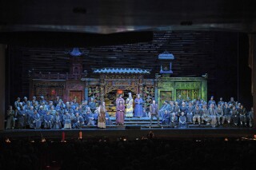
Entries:
[[[20,36],[22,35],[22,36]],[[28,34],[31,36],[31,34]],[[95,77],[93,68],[132,67],[152,69],[147,78],[159,73],[164,61],[158,54],[165,50],[174,54],[171,77],[201,77],[208,73],[208,98],[215,101],[234,97],[249,109],[251,71],[248,67],[247,34],[219,31],[156,31],[136,34],[90,35],[34,34],[9,43],[6,50],[6,105],[14,105],[17,97],[29,96],[28,71],[45,73],[69,72],[69,52],[79,47],[87,77]],[[140,36],[141,35],[141,36]],[[127,41],[124,41],[126,38]],[[11,38],[8,38],[12,40]],[[80,43],[78,43],[80,42]],[[80,45],[78,45],[80,44]]]

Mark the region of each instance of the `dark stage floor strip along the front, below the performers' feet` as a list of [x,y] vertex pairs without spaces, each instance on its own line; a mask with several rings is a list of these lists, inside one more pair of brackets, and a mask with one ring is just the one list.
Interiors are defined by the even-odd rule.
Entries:
[[[136,127],[134,127],[136,128]],[[138,128],[138,127],[137,127]],[[78,139],[78,133],[82,132],[84,140],[117,140],[125,138],[126,140],[138,140],[152,131],[154,137],[163,140],[178,139],[203,139],[203,138],[242,138],[254,137],[255,128],[140,128],[126,129],[120,128],[82,128],[82,129],[11,129],[0,132],[1,139],[46,139],[61,140],[62,132],[65,132],[66,140]]]

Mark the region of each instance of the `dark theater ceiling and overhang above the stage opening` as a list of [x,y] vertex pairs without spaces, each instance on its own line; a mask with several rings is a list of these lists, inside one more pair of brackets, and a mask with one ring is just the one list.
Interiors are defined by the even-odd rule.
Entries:
[[[33,40],[33,36],[26,36],[30,31],[36,31],[35,38],[38,41],[47,38],[47,35],[50,37],[49,34],[52,32],[62,33],[62,36],[54,35],[57,38],[66,36],[66,39],[72,36],[82,37],[78,33],[94,36],[94,34],[159,30],[255,33],[255,4],[254,0],[2,0],[0,41],[15,44],[18,43],[18,39]],[[38,31],[44,34],[38,34]],[[17,32],[17,34],[6,34],[6,32]],[[145,42],[147,38],[138,38],[137,41]],[[58,44],[58,41],[56,43]],[[90,45],[90,42],[86,43]]]

